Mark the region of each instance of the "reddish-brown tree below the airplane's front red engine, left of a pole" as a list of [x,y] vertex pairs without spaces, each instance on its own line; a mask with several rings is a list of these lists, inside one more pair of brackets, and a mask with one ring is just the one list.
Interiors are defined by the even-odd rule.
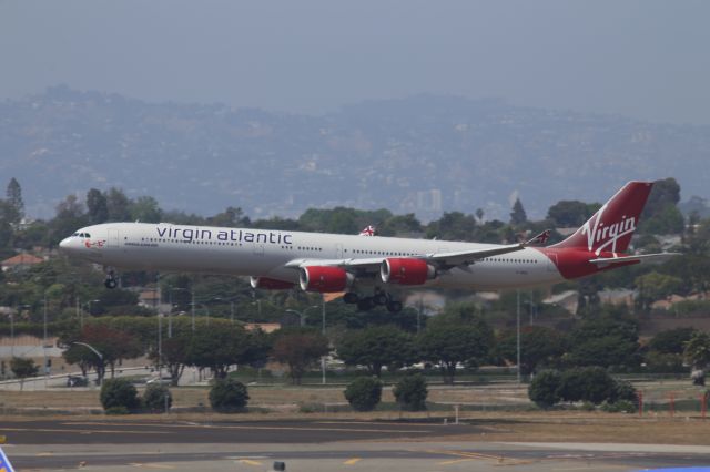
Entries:
[[294,384],[301,384],[306,370],[328,352],[328,340],[317,332],[294,331],[282,334],[274,342],[274,358],[288,366]]

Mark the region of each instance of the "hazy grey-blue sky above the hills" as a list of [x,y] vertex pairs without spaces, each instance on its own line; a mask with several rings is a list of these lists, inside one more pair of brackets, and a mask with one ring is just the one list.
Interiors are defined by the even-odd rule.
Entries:
[[0,0],[0,98],[321,113],[444,93],[710,124],[707,1]]

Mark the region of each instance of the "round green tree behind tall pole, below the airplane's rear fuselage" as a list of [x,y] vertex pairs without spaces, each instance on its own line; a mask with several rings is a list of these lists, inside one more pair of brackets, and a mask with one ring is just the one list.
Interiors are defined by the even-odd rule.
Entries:
[[[526,326],[520,330],[520,372],[535,372],[538,365],[557,363],[568,346],[567,337],[544,326]],[[508,362],[517,362],[517,332],[506,331],[496,342],[495,351]]]

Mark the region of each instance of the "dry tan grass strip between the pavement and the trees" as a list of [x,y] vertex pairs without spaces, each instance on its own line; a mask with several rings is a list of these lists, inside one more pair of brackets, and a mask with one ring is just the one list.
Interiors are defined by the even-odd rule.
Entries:
[[[670,393],[677,400],[697,399],[698,388],[691,388],[687,381],[657,382],[639,386],[647,401],[667,401]],[[174,406],[194,408],[209,406],[207,388],[172,389]],[[439,412],[402,413],[398,411],[377,411],[369,413],[301,413],[303,404],[323,406],[343,404],[343,387],[250,387],[250,407],[261,407],[262,411],[224,415],[212,412],[172,412],[170,415],[130,415],[102,417],[108,421],[268,421],[284,419],[310,420],[400,420],[417,419],[444,422],[453,420],[452,410]],[[475,404],[478,407],[529,406],[525,386],[476,386],[476,387],[430,387],[429,400],[444,404]],[[389,388],[383,392],[383,401],[394,401]],[[29,412],[53,410],[73,412],[72,415],[43,415],[43,419],[95,419],[91,411],[100,411],[99,391],[74,389],[54,389],[50,391],[0,391],[0,408],[13,413],[13,419],[22,419],[17,413],[22,409]],[[694,407],[693,407],[694,408]],[[316,408],[320,410],[320,408]],[[184,411],[184,410],[183,410]],[[79,413],[79,414],[77,414]],[[9,415],[4,417],[10,419]],[[24,419],[37,419],[26,415]],[[447,441],[526,441],[526,442],[626,442],[626,443],[670,443],[710,445],[710,420],[699,418],[699,412],[678,412],[674,418],[668,413],[609,414],[598,411],[465,411],[462,421],[479,427],[478,434],[460,438],[447,437]],[[428,438],[432,440],[432,438]]]

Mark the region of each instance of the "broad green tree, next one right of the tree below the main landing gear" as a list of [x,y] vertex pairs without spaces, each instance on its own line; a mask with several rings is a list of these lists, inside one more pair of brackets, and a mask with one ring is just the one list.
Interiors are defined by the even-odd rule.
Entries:
[[454,383],[456,365],[477,362],[488,353],[493,329],[480,318],[457,314],[436,316],[417,338],[424,359],[440,363],[444,382]]

